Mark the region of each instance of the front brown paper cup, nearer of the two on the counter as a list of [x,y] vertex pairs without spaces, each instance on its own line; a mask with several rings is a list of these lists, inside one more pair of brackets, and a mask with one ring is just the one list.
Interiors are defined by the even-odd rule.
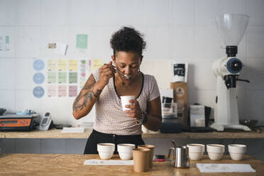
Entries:
[[150,149],[134,148],[133,163],[135,172],[146,172],[149,170]]

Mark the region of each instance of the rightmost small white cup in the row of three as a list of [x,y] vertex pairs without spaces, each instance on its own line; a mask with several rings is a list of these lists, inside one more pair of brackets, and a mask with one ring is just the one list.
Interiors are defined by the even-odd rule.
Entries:
[[246,145],[229,144],[229,154],[232,160],[243,160],[246,153]]

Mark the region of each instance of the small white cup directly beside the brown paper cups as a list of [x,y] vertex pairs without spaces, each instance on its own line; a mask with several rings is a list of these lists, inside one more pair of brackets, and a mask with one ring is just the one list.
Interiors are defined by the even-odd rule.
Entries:
[[136,145],[132,143],[120,143],[117,145],[117,151],[121,160],[131,160],[133,158],[133,148],[136,148]]

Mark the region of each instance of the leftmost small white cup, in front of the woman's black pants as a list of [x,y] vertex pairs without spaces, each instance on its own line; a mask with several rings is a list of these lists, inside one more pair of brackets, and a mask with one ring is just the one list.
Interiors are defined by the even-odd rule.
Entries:
[[99,156],[103,160],[110,159],[114,154],[114,143],[98,143],[97,144],[97,151]]

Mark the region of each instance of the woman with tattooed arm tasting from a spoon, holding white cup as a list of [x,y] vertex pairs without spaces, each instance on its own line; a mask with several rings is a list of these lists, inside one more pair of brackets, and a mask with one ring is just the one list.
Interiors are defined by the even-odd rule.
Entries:
[[[84,154],[96,154],[97,143],[144,144],[141,125],[158,131],[161,123],[160,92],[153,76],[140,71],[145,41],[134,28],[123,27],[111,37],[112,60],[92,72],[73,103],[73,116],[86,116],[96,104],[94,130]],[[134,95],[131,110],[123,111],[121,96]],[[115,150],[115,153],[116,150]]]

